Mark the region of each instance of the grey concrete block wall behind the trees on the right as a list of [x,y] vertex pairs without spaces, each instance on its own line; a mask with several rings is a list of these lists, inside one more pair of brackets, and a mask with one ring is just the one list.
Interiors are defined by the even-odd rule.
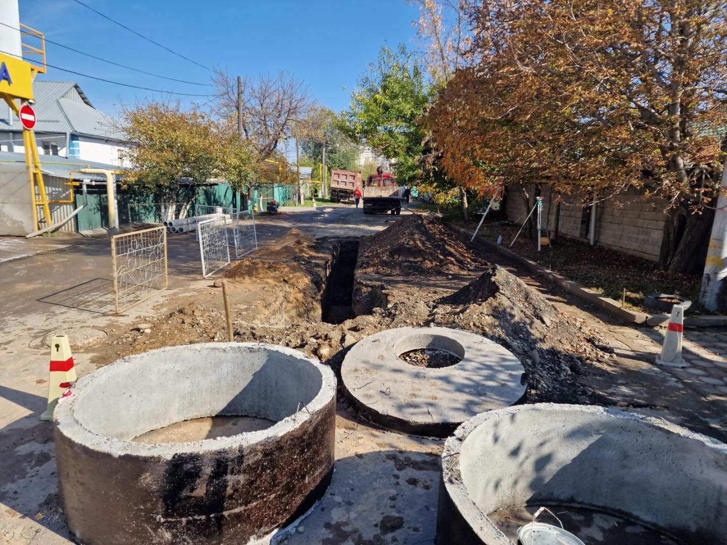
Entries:
[[[527,185],[526,191],[534,202],[534,185]],[[550,230],[555,226],[555,191],[550,185],[541,186],[543,215],[547,217]],[[561,225],[559,233],[563,236],[587,240],[587,227],[582,229],[582,218],[587,211],[583,208],[583,194],[561,195]],[[628,254],[656,261],[659,259],[659,246],[662,243],[664,203],[659,200],[641,198],[638,189],[630,188],[624,193],[607,198],[596,207],[595,240]],[[527,211],[521,196],[520,186],[510,187],[507,194],[507,218],[521,224]]]

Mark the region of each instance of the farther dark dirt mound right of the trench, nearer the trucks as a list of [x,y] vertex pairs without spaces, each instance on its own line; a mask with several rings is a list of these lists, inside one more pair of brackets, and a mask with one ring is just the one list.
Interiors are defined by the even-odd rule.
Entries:
[[358,273],[383,276],[458,275],[477,259],[438,217],[411,214],[362,239]]

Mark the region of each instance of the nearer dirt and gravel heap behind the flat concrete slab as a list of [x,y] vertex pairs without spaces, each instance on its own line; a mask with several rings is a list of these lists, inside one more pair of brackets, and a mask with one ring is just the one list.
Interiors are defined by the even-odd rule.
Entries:
[[456,324],[502,344],[523,362],[529,384],[526,400],[588,401],[577,376],[608,354],[599,340],[560,315],[537,291],[499,265],[438,301],[435,323]]

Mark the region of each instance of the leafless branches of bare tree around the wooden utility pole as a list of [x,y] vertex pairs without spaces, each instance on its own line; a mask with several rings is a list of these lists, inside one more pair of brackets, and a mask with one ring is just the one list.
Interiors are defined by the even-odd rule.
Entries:
[[[215,69],[217,86],[226,116],[237,116],[237,78],[222,68]],[[293,134],[295,125],[313,106],[308,86],[289,73],[261,73],[257,78],[242,77],[242,132],[253,142],[260,159],[270,158],[281,140]]]

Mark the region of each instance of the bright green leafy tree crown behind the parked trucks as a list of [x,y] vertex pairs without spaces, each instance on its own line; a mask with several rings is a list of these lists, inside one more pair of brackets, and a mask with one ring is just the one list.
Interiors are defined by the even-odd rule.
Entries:
[[340,126],[355,142],[379,150],[393,163],[400,182],[422,175],[425,131],[419,118],[430,104],[432,89],[414,54],[400,45],[382,47],[377,62],[358,82]]

